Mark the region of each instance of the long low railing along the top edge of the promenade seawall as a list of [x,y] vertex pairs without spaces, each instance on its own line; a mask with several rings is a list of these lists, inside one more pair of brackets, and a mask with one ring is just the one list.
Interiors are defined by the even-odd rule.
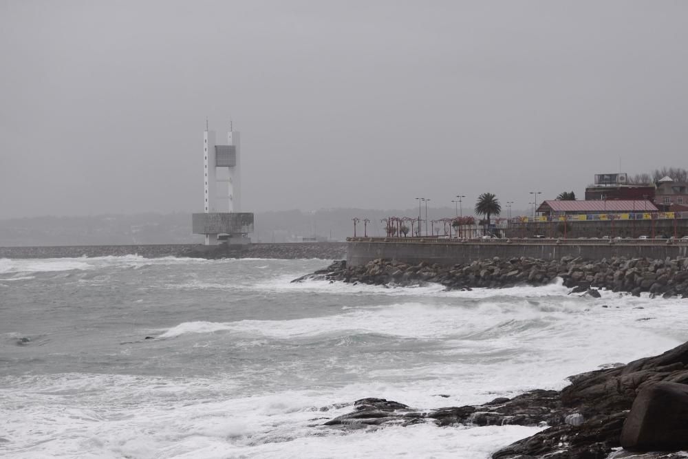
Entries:
[[688,246],[688,239],[563,239],[563,238],[491,238],[462,239],[458,237],[347,237],[347,242],[389,242],[403,244],[466,244],[466,245],[539,245],[539,246]]

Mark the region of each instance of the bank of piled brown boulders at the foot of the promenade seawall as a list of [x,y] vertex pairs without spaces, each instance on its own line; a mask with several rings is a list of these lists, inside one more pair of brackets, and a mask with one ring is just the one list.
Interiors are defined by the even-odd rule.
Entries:
[[512,258],[476,260],[470,264],[406,264],[376,259],[363,266],[347,266],[335,261],[327,268],[305,275],[294,282],[322,279],[384,286],[441,284],[447,290],[503,288],[517,285],[541,286],[557,277],[572,292],[599,296],[599,289],[629,292],[639,296],[688,298],[688,258],[647,259],[614,257],[599,261],[562,257],[559,260]]

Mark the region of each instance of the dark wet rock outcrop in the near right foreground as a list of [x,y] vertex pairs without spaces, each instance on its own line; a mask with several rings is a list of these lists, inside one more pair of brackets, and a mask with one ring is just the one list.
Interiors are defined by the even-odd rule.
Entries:
[[[570,377],[571,385],[561,391],[533,390],[484,405],[418,409],[383,398],[363,398],[354,402],[354,411],[323,425],[338,429],[417,423],[547,427],[499,449],[493,459],[603,459],[612,457],[612,451],[615,458],[688,457],[680,453],[688,447],[688,343],[660,356],[610,366]],[[636,412],[636,405],[641,411]],[[642,453],[619,451],[622,430],[623,445]]]

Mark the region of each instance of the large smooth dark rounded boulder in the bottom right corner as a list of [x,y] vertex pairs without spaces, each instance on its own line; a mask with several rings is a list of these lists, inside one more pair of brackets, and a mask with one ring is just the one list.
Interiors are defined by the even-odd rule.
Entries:
[[660,382],[641,390],[623,425],[621,446],[636,451],[688,448],[688,385]]

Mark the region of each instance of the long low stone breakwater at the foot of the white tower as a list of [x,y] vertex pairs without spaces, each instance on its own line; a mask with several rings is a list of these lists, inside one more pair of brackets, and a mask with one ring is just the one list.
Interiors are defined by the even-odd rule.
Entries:
[[33,246],[0,247],[0,258],[78,258],[121,257],[144,258],[319,258],[337,259],[346,254],[343,242],[296,244],[248,244],[246,246],[202,246],[200,244],[144,244],[129,246]]

